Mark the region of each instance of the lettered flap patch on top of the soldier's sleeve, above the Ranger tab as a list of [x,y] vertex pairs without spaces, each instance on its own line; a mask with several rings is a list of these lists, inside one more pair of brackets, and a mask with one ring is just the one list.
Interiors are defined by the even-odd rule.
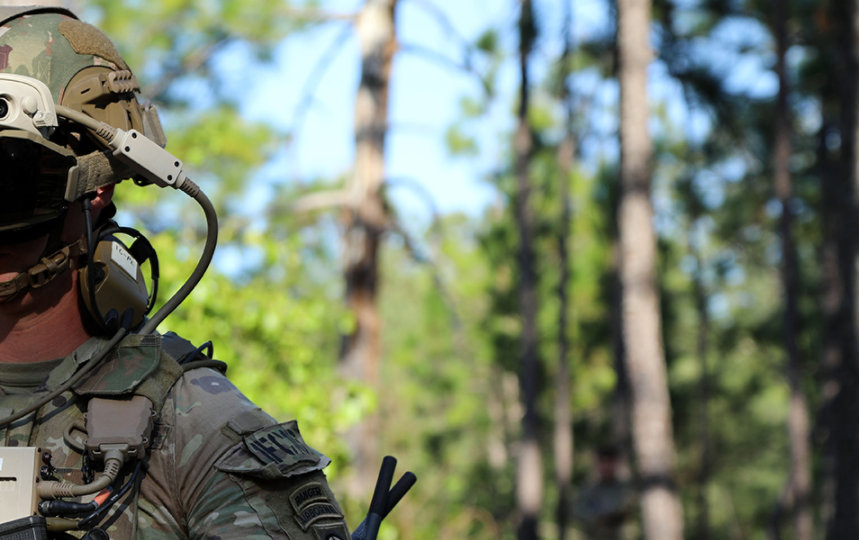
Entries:
[[242,437],[241,444],[215,463],[224,472],[276,480],[324,469],[331,460],[304,442],[295,420]]

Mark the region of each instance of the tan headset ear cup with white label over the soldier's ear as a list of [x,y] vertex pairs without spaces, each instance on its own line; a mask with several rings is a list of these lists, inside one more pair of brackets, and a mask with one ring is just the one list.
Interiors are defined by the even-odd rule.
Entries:
[[[131,247],[116,234],[135,238]],[[81,299],[92,319],[108,332],[137,328],[155,303],[158,258],[149,241],[135,229],[107,227],[98,233],[88,264],[80,270]],[[152,294],[146,288],[142,265],[150,261]]]

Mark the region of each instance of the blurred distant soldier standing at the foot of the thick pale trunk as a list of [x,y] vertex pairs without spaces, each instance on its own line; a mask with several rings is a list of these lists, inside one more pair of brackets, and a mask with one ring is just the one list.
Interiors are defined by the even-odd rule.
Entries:
[[596,452],[596,479],[581,490],[573,507],[588,540],[634,538],[635,493],[619,474],[619,452],[611,445]]

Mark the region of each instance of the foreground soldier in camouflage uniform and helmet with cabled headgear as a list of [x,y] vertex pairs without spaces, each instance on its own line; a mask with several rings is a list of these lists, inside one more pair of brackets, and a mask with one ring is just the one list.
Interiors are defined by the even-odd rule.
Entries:
[[111,220],[114,184],[207,200],[138,90],[71,12],[0,8],[0,441],[41,449],[47,520],[28,523],[55,537],[347,540],[329,460],[296,423],[251,403],[206,347],[154,331],[181,297],[145,318],[154,252]]

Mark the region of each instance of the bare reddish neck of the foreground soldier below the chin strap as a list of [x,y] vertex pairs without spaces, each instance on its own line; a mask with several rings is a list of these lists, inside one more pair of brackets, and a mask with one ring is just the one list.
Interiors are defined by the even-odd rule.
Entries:
[[78,307],[76,279],[76,272],[69,272],[0,304],[0,362],[62,358],[90,338]]

